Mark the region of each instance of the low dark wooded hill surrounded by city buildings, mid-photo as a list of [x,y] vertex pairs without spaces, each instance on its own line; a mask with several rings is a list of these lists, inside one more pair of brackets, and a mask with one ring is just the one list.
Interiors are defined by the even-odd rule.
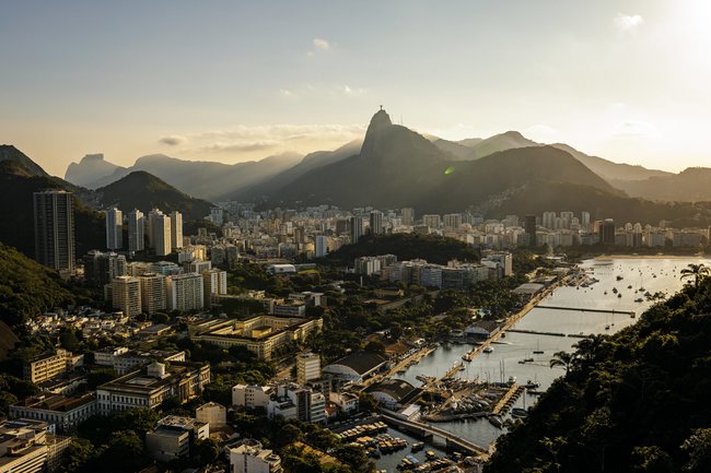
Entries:
[[352,265],[358,257],[377,255],[395,255],[399,261],[421,258],[438,264],[446,264],[452,259],[479,261],[478,251],[470,245],[453,238],[418,234],[365,235],[358,244],[346,245],[333,252],[327,260]]

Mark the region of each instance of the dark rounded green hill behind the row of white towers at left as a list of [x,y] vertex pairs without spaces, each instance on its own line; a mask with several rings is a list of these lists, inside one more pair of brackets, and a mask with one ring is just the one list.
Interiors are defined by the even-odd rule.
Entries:
[[125,212],[138,209],[148,213],[154,208],[164,213],[179,211],[185,221],[203,218],[212,206],[210,202],[191,198],[144,170],[132,172],[96,189],[96,199],[102,208],[115,205]]

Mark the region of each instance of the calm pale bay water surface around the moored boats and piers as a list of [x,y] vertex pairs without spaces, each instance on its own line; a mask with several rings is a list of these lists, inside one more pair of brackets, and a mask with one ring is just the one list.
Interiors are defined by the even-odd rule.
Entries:
[[[587,288],[560,287],[541,305],[633,310],[637,312],[636,319],[621,314],[535,308],[515,328],[566,334],[615,333],[634,323],[640,315],[653,304],[646,299],[636,303],[636,298],[644,298],[644,292],[636,293],[636,289],[643,287],[652,294],[658,291],[672,295],[683,285],[679,272],[691,262],[703,262],[709,265],[711,260],[698,258],[586,260],[580,267],[586,269],[599,282]],[[622,280],[618,281],[618,275],[622,276]],[[630,285],[632,287],[628,288]],[[613,288],[617,288],[622,296],[617,297],[613,293]],[[609,326],[608,330],[605,329],[606,326]],[[549,367],[552,354],[559,351],[570,351],[580,339],[510,332],[504,339],[499,340],[501,343],[493,345],[493,353],[481,354],[471,363],[465,363],[466,370],[459,371],[459,376],[490,381],[505,381],[510,376],[515,376],[520,383],[525,383],[529,379],[535,380],[540,383],[540,389],[545,390],[563,373],[562,368],[551,369]],[[415,386],[420,386],[421,382],[416,379],[417,375],[443,376],[469,350],[471,350],[470,345],[442,346],[398,377]],[[540,350],[544,354],[534,355],[534,350]],[[518,364],[518,360],[529,357],[534,358],[533,363]],[[523,407],[524,403],[525,406],[528,406],[535,401],[535,397],[525,394],[518,400],[517,406]],[[493,427],[486,419],[436,425],[481,446],[489,445],[505,431]],[[404,454],[397,457],[401,458]],[[392,471],[391,468],[387,469]]]

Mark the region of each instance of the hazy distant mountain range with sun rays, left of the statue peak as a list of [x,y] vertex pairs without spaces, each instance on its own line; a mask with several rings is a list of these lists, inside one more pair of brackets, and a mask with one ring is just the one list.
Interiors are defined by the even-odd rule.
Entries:
[[[144,170],[190,196],[207,200],[219,200],[225,194],[278,175],[298,164],[301,158],[302,155],[296,153],[282,153],[260,161],[229,165],[206,161],[178,159],[164,154],[151,154],[139,157],[128,168],[102,159],[104,163],[101,165],[102,168],[107,169],[105,164],[108,164],[115,166],[114,170],[85,186],[98,189],[128,176],[130,173]],[[84,163],[84,161],[85,158],[79,164],[72,163],[67,169],[67,175],[70,175],[70,170],[72,177],[93,173],[97,167],[97,162],[90,159]]]

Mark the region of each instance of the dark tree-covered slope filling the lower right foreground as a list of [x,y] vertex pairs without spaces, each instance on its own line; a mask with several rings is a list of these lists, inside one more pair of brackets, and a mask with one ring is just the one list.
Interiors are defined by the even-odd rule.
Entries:
[[[697,285],[697,277],[698,285]],[[702,472],[711,460],[711,280],[582,340],[487,472]]]

